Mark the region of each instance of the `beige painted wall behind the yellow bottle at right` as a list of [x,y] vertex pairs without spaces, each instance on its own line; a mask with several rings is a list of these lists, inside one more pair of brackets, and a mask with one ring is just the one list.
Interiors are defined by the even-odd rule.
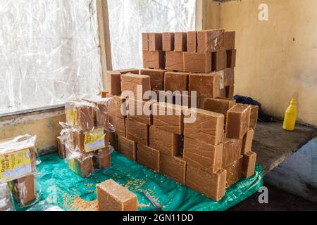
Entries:
[[[259,21],[259,4],[269,20]],[[206,28],[236,31],[235,93],[275,117],[298,98],[299,121],[317,126],[317,1],[207,0]]]

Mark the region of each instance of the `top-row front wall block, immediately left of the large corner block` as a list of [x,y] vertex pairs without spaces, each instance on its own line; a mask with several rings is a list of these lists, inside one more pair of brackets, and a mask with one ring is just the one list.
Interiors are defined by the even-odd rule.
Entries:
[[184,131],[184,110],[180,105],[154,103],[154,127],[182,135]]

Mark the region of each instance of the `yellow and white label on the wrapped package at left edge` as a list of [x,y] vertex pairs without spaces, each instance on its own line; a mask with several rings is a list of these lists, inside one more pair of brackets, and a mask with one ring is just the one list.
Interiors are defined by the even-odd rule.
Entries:
[[0,183],[32,174],[30,150],[24,149],[0,155]]

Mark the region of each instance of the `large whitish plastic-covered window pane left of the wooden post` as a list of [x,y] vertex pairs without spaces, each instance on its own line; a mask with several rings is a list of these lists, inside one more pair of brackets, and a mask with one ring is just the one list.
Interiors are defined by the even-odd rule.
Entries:
[[98,94],[95,0],[0,0],[0,114]]

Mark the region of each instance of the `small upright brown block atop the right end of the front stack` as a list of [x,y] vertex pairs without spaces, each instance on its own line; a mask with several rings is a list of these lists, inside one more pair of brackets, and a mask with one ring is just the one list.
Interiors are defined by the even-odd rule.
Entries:
[[225,133],[229,139],[242,139],[249,130],[251,106],[237,104],[227,113]]

